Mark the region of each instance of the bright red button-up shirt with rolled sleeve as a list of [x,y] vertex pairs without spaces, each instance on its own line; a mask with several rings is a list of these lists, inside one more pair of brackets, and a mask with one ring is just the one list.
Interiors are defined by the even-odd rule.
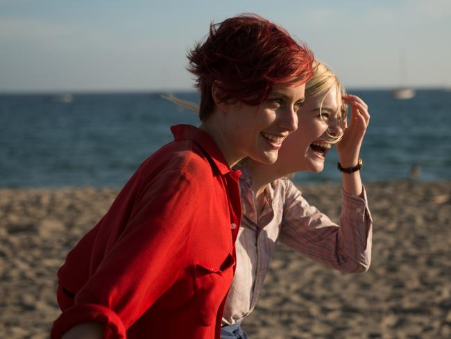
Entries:
[[105,338],[220,338],[239,172],[207,133],[171,131],[58,271],[52,339],[82,322],[105,324]]

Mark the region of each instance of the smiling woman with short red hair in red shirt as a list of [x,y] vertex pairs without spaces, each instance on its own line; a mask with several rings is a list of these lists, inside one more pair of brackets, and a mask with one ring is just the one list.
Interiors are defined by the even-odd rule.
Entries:
[[296,130],[312,52],[257,15],[210,26],[189,55],[201,126],[142,163],[58,271],[52,339],[220,338],[235,272],[244,157],[274,163]]

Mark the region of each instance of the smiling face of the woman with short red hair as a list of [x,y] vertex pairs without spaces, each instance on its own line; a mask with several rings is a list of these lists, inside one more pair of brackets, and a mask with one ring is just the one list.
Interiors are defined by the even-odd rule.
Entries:
[[282,142],[298,126],[297,112],[304,101],[305,84],[286,86],[275,85],[259,106],[237,102],[223,107],[226,142],[221,150],[229,163],[246,156],[266,164],[277,160]]

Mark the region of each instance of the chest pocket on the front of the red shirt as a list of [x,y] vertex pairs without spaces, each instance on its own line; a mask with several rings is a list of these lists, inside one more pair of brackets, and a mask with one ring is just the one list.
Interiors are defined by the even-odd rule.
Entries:
[[226,261],[219,268],[204,264],[194,265],[196,306],[201,324],[208,326],[216,320],[219,306],[232,283],[234,265],[235,258],[232,254],[228,254]]

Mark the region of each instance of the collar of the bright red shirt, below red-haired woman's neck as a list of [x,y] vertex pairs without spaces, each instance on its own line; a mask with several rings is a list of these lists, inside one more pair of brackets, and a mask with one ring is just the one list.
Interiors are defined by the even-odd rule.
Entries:
[[171,132],[174,136],[174,140],[193,140],[202,147],[208,156],[212,159],[212,163],[224,175],[231,172],[231,175],[238,180],[239,171],[232,171],[228,165],[226,158],[224,158],[221,150],[216,146],[216,143],[208,135],[207,132],[198,129],[196,126],[178,124],[171,126]]

